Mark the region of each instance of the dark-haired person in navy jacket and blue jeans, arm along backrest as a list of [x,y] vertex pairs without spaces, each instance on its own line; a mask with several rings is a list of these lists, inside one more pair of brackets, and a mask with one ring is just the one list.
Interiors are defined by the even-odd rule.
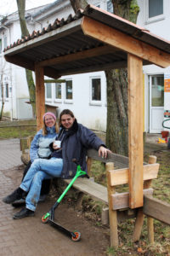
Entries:
[[[60,142],[60,146],[51,143],[52,150],[50,160],[37,159],[26,173],[26,177],[20,187],[11,194],[11,200],[16,200],[16,194],[26,196],[26,207],[14,214],[14,218],[25,218],[33,216],[39,200],[42,180],[49,177],[71,178],[77,172],[77,166],[72,162],[76,158],[82,170],[86,170],[86,153],[88,148],[95,148],[99,155],[107,157],[109,149],[105,148],[99,137],[85,126],[78,124],[74,114],[69,109],[65,109],[59,116],[60,131],[55,140]],[[57,143],[58,144],[58,143]]]

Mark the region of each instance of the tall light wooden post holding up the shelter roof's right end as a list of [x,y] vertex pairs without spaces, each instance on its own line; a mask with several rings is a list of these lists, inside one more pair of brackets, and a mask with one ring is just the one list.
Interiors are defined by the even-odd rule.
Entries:
[[143,73],[142,59],[127,56],[129,207],[143,207]]

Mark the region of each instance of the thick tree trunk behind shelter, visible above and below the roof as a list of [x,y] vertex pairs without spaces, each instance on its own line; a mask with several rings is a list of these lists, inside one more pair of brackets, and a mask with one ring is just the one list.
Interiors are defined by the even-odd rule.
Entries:
[[[113,0],[114,14],[136,23],[136,0]],[[107,78],[106,145],[116,154],[128,155],[127,68],[105,71]]]

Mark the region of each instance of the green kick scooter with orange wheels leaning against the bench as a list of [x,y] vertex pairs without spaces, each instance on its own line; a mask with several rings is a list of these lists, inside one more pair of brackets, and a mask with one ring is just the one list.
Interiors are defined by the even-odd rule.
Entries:
[[77,164],[77,173],[76,173],[75,177],[73,177],[73,179],[71,180],[71,183],[68,184],[66,189],[59,196],[59,199],[54,203],[54,206],[51,207],[49,212],[47,212],[46,214],[44,214],[42,216],[42,223],[44,223],[44,224],[45,223],[52,224],[52,225],[54,225],[55,228],[57,228],[58,230],[63,231],[67,236],[70,236],[72,241],[79,241],[80,238],[81,238],[81,233],[80,232],[77,232],[77,231],[71,232],[70,230],[65,229],[65,227],[61,226],[60,224],[54,222],[54,211],[55,211],[55,209],[59,206],[60,201],[62,201],[62,199],[64,198],[64,196],[67,193],[67,191],[69,189],[71,189],[71,186],[76,181],[77,177],[80,177],[82,175],[88,177],[87,172],[82,171],[81,166],[79,165],[77,160],[73,159],[72,161],[75,164]]

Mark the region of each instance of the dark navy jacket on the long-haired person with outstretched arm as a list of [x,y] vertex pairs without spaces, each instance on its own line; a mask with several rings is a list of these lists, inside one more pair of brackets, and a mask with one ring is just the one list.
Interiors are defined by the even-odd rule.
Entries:
[[[61,128],[59,134],[61,134],[62,129],[64,128]],[[56,137],[56,140],[58,137]],[[87,171],[86,155],[88,148],[98,150],[101,145],[105,147],[105,143],[103,143],[93,131],[90,131],[85,126],[78,124],[75,119],[71,129],[66,133],[61,142],[63,158],[63,171],[61,173],[61,177],[71,178],[75,176],[77,166],[72,162],[73,159],[77,159],[82,166],[82,170]],[[52,157],[54,156],[55,152],[52,153]]]

